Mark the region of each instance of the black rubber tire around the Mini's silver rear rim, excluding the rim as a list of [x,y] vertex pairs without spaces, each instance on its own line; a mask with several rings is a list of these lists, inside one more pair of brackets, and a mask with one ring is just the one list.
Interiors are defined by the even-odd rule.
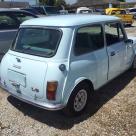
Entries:
[[[86,99],[86,103],[83,106],[83,108],[81,108],[81,110],[77,111],[76,110],[76,106],[75,106],[75,98],[76,96],[81,93],[81,91],[83,90],[86,92],[87,94],[87,99]],[[88,103],[89,103],[89,98],[91,96],[91,87],[89,87],[89,85],[87,83],[80,83],[79,85],[77,85],[75,87],[75,89],[73,90],[73,93],[71,94],[69,101],[67,103],[67,106],[63,109],[64,114],[68,115],[68,116],[77,116],[77,115],[81,115],[84,110],[86,109]]]

